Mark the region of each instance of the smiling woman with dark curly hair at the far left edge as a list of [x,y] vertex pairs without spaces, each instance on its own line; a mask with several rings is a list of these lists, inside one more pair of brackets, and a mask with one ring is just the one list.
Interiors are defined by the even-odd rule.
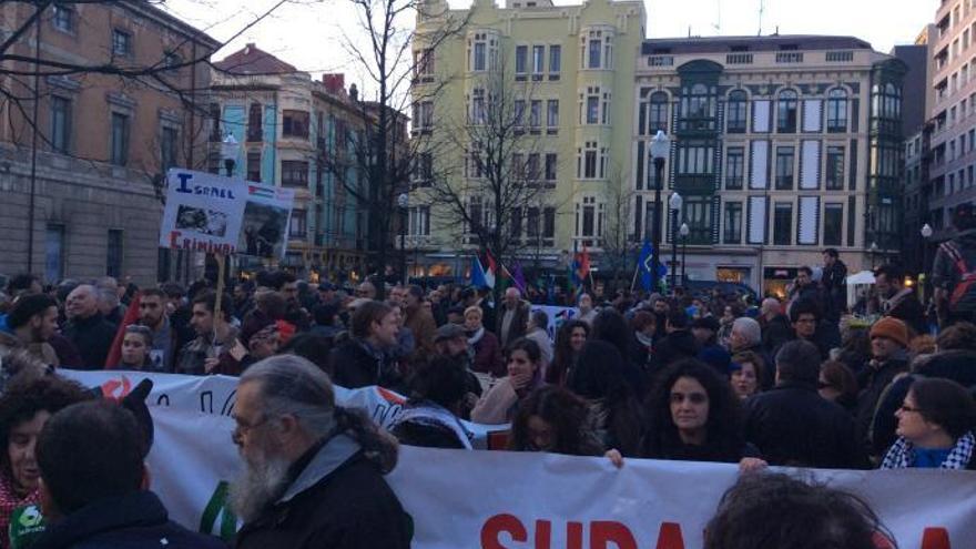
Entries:
[[89,398],[80,385],[58,376],[24,372],[10,379],[0,396],[0,531],[16,509],[39,501],[34,448],[48,418]]

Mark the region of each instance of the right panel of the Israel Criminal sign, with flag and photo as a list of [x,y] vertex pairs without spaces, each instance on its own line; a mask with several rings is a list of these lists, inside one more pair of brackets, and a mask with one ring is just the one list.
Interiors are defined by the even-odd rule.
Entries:
[[247,203],[238,242],[241,253],[265,258],[284,257],[294,201],[294,189],[247,183]]

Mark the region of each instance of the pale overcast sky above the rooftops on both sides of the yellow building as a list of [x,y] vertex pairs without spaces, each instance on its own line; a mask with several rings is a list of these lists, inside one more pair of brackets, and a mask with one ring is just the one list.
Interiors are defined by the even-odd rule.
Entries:
[[[303,0],[305,2],[309,0]],[[499,3],[505,0],[496,0]],[[761,0],[644,0],[650,38],[749,34],[760,30]],[[217,40],[240,32],[256,14],[277,0],[166,0],[165,7],[181,19],[207,30]],[[470,2],[451,0],[451,7]],[[557,4],[578,1],[557,0]],[[912,43],[922,28],[935,19],[938,0],[764,0],[762,32],[770,34],[847,34],[887,52],[895,44]],[[345,72],[360,82],[356,65],[342,49],[343,32],[354,31],[356,11],[347,0],[326,0],[313,6],[284,6],[274,16],[246,30],[217,59],[257,43],[298,69],[314,73]]]

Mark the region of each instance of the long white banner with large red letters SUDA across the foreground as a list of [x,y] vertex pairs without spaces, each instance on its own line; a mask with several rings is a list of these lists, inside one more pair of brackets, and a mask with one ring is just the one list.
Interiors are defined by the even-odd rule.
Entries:
[[[116,395],[142,376],[70,375]],[[151,407],[153,489],[174,520],[231,536],[236,519],[226,512],[226,486],[240,458],[223,408],[233,407],[233,379],[146,377],[159,380],[151,397],[160,404]],[[196,403],[213,411],[190,409]],[[796,472],[863,497],[902,549],[966,549],[976,540],[972,472]],[[691,549],[701,547],[704,526],[736,475],[733,465],[630,459],[616,469],[603,458],[404,447],[388,480],[414,519],[417,549]]]

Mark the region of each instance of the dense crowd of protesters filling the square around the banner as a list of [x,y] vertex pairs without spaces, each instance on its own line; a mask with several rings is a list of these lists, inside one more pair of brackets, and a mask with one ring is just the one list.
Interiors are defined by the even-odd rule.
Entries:
[[[945,273],[941,295],[964,274]],[[949,303],[934,336],[899,270],[875,275],[870,322],[851,315],[834,250],[822,267],[801,268],[783,299],[582,293],[577,315],[558,322],[515,287],[495,303],[487,288],[312,285],[285,271],[224,295],[207,282],[101,278],[45,291],[16,276],[0,317],[0,528],[47,498],[59,520],[37,547],[112,536],[218,547],[170,522],[148,491],[144,404],[101,403],[62,368],[240,376],[238,547],[408,547],[409,518],[383,474],[398,441],[471,449],[464,420],[509,424],[509,450],[607,456],[618,467],[653,458],[739,464],[744,476],[770,465],[976,469],[976,325],[965,301]],[[336,406],[333,384],[407,401],[387,431]],[[751,547],[714,540],[742,529],[723,514],[761,516],[749,497],[773,498],[769,486],[791,487],[794,502],[853,509],[852,528],[876,522],[845,496],[763,477],[730,491],[709,547]]]

